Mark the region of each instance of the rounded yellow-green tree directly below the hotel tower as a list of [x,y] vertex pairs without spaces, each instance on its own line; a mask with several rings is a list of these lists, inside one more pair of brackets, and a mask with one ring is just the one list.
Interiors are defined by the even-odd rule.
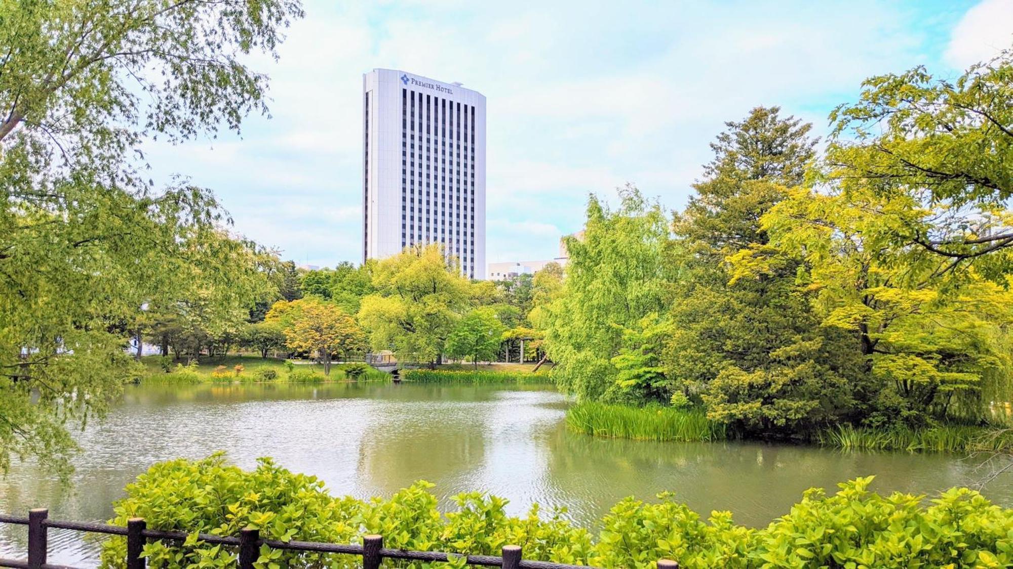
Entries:
[[359,320],[374,349],[399,361],[435,363],[461,316],[471,308],[472,284],[440,245],[413,246],[377,263],[376,293],[362,301]]

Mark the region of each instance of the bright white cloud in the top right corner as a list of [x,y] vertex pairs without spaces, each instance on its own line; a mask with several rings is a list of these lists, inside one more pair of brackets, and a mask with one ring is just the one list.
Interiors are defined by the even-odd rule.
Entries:
[[1013,0],[984,0],[960,18],[950,33],[944,58],[963,69],[1013,47]]

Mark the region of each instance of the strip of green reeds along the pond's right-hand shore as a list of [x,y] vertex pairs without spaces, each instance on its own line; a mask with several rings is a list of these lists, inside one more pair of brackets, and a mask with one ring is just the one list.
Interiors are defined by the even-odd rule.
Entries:
[[848,451],[964,453],[1013,449],[1013,432],[1008,429],[970,425],[939,425],[919,429],[838,425],[820,432],[816,440],[826,446]]

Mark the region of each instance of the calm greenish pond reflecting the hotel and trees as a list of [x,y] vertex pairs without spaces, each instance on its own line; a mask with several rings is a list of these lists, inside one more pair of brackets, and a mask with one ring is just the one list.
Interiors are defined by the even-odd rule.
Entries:
[[[124,486],[152,463],[226,451],[237,465],[275,457],[314,474],[332,494],[390,495],[428,480],[448,504],[458,492],[565,507],[593,526],[619,499],[672,490],[703,515],[729,509],[763,525],[811,486],[875,475],[873,489],[934,493],[983,473],[955,455],[841,453],[749,442],[599,439],[568,432],[567,399],[551,387],[335,383],[132,386],[107,419],[78,433],[83,449],[68,488],[30,465],[0,480],[0,511],[49,507],[53,517],[104,520]],[[1013,506],[1013,485],[986,488]],[[97,545],[52,532],[50,563],[93,565]],[[23,557],[21,527],[0,524],[0,557]]]

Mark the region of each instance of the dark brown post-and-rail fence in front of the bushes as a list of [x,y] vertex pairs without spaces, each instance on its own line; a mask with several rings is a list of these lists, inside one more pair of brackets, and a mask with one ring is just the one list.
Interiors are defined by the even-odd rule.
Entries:
[[[144,569],[145,559],[141,557],[144,545],[148,540],[165,540],[183,542],[188,534],[185,532],[162,532],[148,530],[143,518],[134,517],[127,526],[92,523],[87,521],[60,521],[49,518],[49,510],[33,509],[28,511],[28,517],[16,517],[0,514],[0,523],[15,523],[28,526],[28,558],[25,561],[0,558],[0,567],[19,567],[25,569],[76,569],[66,565],[52,565],[46,562],[48,552],[47,532],[50,527],[73,530],[91,534],[127,537],[127,569]],[[366,536],[363,545],[321,544],[317,542],[280,542],[277,540],[261,540],[258,530],[242,530],[238,538],[212,536],[201,534],[200,539],[208,544],[221,544],[237,548],[239,551],[239,569],[253,569],[253,563],[260,557],[260,546],[287,551],[305,551],[315,553],[333,553],[358,555],[363,558],[363,569],[379,569],[384,559],[404,559],[423,562],[445,562],[451,558],[459,558],[455,554],[432,551],[406,551],[383,547],[383,537]],[[564,565],[546,561],[525,561],[518,546],[503,546],[502,556],[488,555],[467,556],[468,565],[485,567],[502,567],[503,569],[595,569],[582,565]],[[674,561],[660,560],[658,569],[678,569]]]

